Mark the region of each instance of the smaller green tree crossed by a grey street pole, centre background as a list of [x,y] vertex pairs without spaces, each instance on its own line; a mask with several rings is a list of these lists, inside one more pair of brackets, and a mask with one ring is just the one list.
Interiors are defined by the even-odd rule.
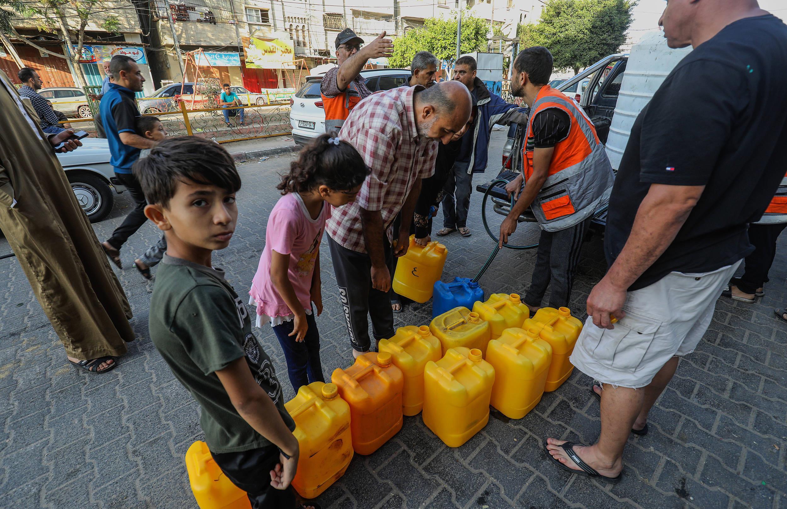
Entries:
[[[469,13],[462,16],[461,52],[486,51],[486,34],[489,22]],[[456,17],[445,19],[430,17],[423,28],[414,28],[404,37],[393,41],[393,55],[388,59],[391,67],[408,67],[419,51],[430,51],[440,60],[456,59]]]

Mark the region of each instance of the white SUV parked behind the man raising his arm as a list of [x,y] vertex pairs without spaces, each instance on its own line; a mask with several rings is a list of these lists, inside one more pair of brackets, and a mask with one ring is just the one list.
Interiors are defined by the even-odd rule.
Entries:
[[[366,79],[369,90],[379,92],[405,85],[411,75],[409,69],[370,69],[361,71],[360,76]],[[325,110],[320,94],[322,79],[322,76],[309,76],[290,99],[290,125],[298,145],[306,145],[325,132]]]

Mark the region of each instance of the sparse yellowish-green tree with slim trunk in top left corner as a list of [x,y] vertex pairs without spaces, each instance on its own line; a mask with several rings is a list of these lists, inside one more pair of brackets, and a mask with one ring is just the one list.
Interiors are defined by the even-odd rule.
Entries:
[[[87,80],[82,66],[79,65],[79,57],[82,55],[85,29],[88,24],[94,24],[105,31],[116,32],[120,28],[120,20],[114,14],[107,13],[112,6],[113,4],[102,0],[0,0],[0,39],[7,42],[7,36],[11,35],[42,53],[65,58],[76,70],[74,80],[77,87],[84,87]],[[58,35],[68,45],[70,54],[63,55],[47,50],[20,35],[13,26],[15,18],[30,20],[39,31]],[[76,46],[76,49],[73,46]]]

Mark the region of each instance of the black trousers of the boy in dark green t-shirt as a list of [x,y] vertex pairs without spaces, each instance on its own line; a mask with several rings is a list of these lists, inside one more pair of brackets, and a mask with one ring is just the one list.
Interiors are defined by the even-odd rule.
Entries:
[[[272,419],[280,419],[272,416]],[[249,496],[252,509],[292,509],[295,493],[292,488],[275,489],[270,471],[279,463],[279,448],[264,448],[241,452],[211,452],[210,456],[224,475]]]

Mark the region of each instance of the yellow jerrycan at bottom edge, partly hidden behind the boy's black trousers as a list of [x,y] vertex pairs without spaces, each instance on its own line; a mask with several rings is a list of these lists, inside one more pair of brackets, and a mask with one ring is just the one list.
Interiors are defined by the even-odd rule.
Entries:
[[251,509],[249,496],[222,473],[205,442],[191,444],[186,452],[186,470],[200,509]]

